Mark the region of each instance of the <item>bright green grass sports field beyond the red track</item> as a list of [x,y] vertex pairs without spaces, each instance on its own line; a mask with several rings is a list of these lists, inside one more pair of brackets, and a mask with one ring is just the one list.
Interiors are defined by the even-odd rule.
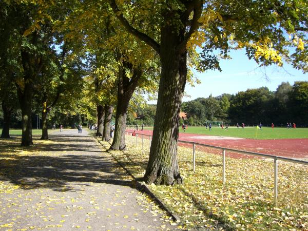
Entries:
[[[147,130],[152,130],[152,128],[147,127]],[[183,133],[182,127],[179,129],[180,133]],[[235,128],[230,127],[228,130],[221,129],[218,127],[212,128],[210,131],[209,128],[205,127],[188,127],[185,130],[186,133],[195,133],[195,134],[206,134],[211,136],[224,136],[224,137],[238,137],[238,138],[249,138],[249,139],[258,139],[258,140],[275,140],[275,139],[299,139],[299,138],[308,138],[308,128],[296,128],[296,129],[286,129],[286,128],[268,128],[263,127],[260,131],[256,127],[245,127]]]

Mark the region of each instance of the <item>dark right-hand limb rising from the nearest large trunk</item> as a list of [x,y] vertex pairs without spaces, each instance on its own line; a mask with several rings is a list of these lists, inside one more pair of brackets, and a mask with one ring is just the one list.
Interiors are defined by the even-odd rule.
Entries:
[[178,51],[180,53],[186,50],[186,44],[192,33],[197,31],[200,27],[200,23],[198,22],[201,17],[202,9],[203,9],[203,1],[202,0],[194,0],[194,16],[192,17],[192,21],[190,24],[189,31],[185,34],[183,42],[178,46]]

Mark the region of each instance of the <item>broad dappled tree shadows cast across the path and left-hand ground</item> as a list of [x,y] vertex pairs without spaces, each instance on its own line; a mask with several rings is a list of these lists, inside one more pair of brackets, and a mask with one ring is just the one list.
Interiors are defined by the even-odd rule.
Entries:
[[[16,152],[25,150],[18,139],[13,143],[0,144],[0,181],[9,181],[26,190],[50,188],[67,191],[75,190],[74,184],[90,186],[90,183],[134,187],[132,181],[123,179],[119,165],[110,162],[108,157],[91,154],[99,152],[93,139],[70,138],[54,136],[49,143],[27,148],[30,155],[17,155]],[[73,151],[73,154],[65,155],[64,151]],[[48,152],[60,152],[61,155],[51,156]]]

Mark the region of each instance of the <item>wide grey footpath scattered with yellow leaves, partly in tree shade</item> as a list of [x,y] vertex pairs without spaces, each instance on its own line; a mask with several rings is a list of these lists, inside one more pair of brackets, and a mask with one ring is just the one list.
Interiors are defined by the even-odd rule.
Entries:
[[87,131],[49,138],[0,153],[0,230],[175,228]]

